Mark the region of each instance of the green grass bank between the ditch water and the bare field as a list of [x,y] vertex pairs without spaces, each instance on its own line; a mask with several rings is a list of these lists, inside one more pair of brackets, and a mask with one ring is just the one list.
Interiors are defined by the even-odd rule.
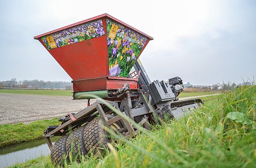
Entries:
[[33,121],[29,124],[0,125],[0,147],[43,138],[43,131],[49,125],[60,125],[57,118]]

